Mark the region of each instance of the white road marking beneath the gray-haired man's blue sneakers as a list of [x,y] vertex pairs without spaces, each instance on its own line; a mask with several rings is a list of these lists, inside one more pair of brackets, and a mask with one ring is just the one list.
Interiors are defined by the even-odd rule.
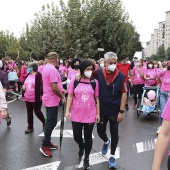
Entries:
[[[108,162],[109,156],[110,156],[110,150],[108,150],[105,156],[103,156],[101,152],[90,154],[89,163],[90,165],[96,165],[99,163]],[[119,147],[116,148],[115,157],[116,159],[120,158]],[[79,165],[69,166],[69,167],[64,168],[64,170],[73,170],[73,169],[82,168],[82,167],[83,167],[83,158],[81,159],[81,162]]]

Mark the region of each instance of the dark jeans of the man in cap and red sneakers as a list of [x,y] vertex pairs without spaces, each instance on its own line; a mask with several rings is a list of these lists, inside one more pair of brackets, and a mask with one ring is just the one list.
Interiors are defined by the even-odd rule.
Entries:
[[44,129],[44,139],[42,146],[48,147],[51,144],[51,133],[57,124],[58,106],[46,107],[47,121]]

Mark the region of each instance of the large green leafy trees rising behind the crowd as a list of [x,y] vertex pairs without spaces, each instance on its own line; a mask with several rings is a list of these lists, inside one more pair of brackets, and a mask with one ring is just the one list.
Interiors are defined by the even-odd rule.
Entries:
[[133,56],[142,50],[139,34],[121,0],[68,0],[68,6],[60,0],[60,9],[54,3],[42,6],[34,21],[26,24],[20,39],[14,38],[13,45],[9,45],[8,38],[0,38],[0,44],[8,42],[0,46],[0,55],[4,50],[14,56],[20,51],[23,59],[39,60],[49,51],[56,51],[65,58],[98,58],[98,48],[118,56]]

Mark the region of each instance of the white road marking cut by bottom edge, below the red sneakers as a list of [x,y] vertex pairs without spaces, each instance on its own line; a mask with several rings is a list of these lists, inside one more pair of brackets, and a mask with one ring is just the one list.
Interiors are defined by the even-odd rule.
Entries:
[[22,170],[57,170],[60,165],[60,162],[61,161],[52,162],[52,163],[38,165],[38,166],[34,166],[31,168],[22,169]]

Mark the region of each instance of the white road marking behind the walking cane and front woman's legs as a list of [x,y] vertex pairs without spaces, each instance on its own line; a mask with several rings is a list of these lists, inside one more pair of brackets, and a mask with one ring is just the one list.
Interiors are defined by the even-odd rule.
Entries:
[[[83,138],[84,138],[84,133]],[[44,133],[41,133],[39,136],[44,136]],[[52,131],[51,137],[60,137],[60,130],[54,129]],[[65,138],[73,138],[73,130],[64,130],[63,131],[63,137]],[[92,138],[94,138],[94,135],[92,134]]]

